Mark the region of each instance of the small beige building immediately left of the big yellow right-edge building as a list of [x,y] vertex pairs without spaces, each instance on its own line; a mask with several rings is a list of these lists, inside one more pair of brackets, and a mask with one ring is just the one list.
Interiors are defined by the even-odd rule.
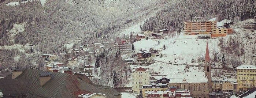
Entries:
[[222,82],[222,92],[234,92],[237,91],[236,79],[225,79]]

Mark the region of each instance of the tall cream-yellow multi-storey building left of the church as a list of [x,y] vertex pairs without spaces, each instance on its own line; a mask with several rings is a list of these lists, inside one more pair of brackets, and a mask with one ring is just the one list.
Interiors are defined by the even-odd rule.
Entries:
[[148,68],[133,68],[131,72],[131,82],[133,93],[142,93],[143,85],[149,84],[149,69]]

